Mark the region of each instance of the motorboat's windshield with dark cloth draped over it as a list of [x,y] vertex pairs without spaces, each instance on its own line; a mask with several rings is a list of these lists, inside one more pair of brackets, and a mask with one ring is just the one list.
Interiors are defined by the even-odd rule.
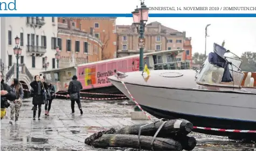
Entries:
[[[239,69],[241,61],[225,57],[226,49],[222,46],[215,43],[214,47],[214,52],[210,52],[196,75],[197,82],[207,85],[239,87],[244,78],[244,73]],[[232,64],[228,62],[232,62]]]

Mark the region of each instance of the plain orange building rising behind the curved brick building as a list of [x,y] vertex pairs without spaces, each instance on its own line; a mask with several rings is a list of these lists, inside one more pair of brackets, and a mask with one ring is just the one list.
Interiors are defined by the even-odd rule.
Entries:
[[58,22],[67,24],[71,20],[73,27],[98,37],[102,42],[101,59],[116,57],[116,18],[111,17],[83,17],[83,18],[59,18]]

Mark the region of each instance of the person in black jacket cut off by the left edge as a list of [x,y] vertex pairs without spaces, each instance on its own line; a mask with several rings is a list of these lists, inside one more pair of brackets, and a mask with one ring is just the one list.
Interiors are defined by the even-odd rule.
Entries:
[[6,108],[10,106],[9,101],[15,101],[16,100],[16,94],[11,89],[11,87],[4,82],[3,79],[4,75],[1,70],[1,119],[5,116],[6,114]]

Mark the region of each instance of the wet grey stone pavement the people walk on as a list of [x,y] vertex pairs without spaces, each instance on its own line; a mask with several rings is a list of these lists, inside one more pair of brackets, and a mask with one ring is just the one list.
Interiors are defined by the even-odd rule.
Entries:
[[[75,106],[75,115],[71,115],[70,101],[53,100],[50,116],[45,117],[42,106],[41,120],[32,120],[31,99],[23,100],[19,120],[10,125],[8,119],[1,120],[1,150],[137,150],[137,149],[98,149],[84,144],[89,135],[110,127],[148,123],[149,120],[131,120],[132,105],[123,101],[85,101],[82,100],[84,114]],[[124,101],[126,102],[126,101]],[[127,103],[127,102],[126,102]],[[225,137],[213,137],[192,133],[198,145],[194,150],[256,150],[255,144],[231,141]]]

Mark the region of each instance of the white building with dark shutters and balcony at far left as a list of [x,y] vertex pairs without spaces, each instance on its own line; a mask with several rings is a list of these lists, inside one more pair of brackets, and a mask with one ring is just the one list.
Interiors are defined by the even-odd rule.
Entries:
[[13,54],[16,36],[22,48],[20,64],[25,64],[30,73],[36,75],[45,70],[44,57],[47,56],[47,69],[52,69],[56,64],[52,37],[57,37],[57,23],[56,17],[1,17],[1,60],[7,69],[17,62]]

